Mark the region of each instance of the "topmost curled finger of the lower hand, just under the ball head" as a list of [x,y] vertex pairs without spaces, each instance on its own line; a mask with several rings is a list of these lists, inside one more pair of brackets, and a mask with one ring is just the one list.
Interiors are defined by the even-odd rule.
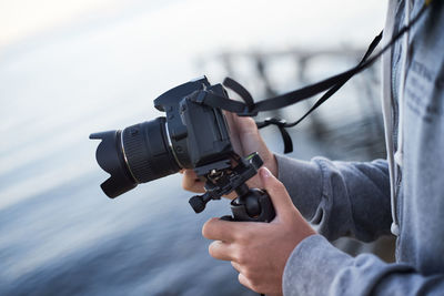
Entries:
[[239,233],[242,233],[248,223],[245,222],[231,222],[220,218],[211,218],[206,221],[202,228],[202,235],[208,239],[234,242]]

